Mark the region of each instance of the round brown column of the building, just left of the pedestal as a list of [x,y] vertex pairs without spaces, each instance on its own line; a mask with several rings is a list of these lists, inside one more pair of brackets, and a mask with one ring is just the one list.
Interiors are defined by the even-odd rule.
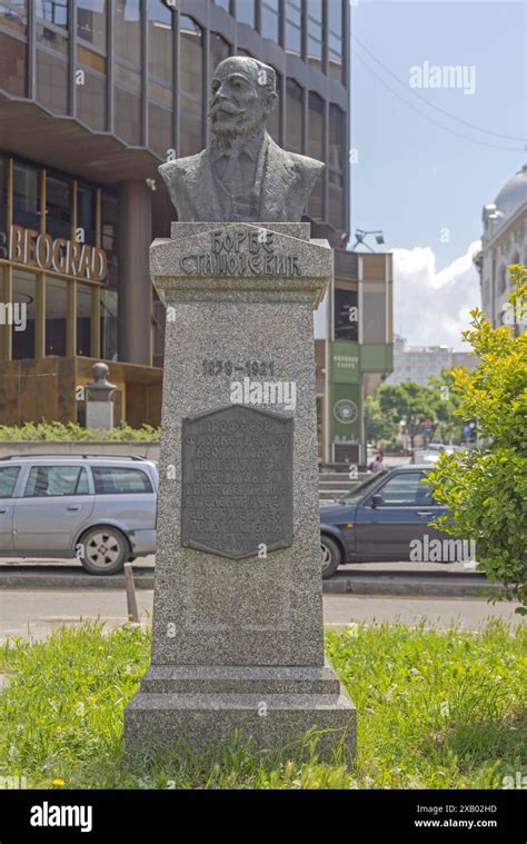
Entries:
[[148,249],[152,193],[143,179],[119,185],[119,360],[151,366],[152,287]]

